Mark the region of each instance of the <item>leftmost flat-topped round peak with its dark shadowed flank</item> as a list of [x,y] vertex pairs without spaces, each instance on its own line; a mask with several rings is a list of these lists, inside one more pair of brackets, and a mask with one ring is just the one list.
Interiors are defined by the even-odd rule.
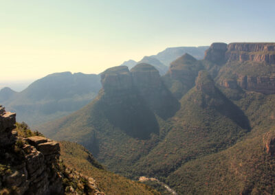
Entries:
[[101,81],[98,104],[111,124],[133,137],[143,139],[151,133],[158,133],[155,115],[137,91],[128,67],[107,69],[101,74]]

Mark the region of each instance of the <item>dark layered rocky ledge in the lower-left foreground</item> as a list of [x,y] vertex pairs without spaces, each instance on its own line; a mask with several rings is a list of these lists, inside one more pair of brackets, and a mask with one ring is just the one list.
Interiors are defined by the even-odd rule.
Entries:
[[[15,116],[0,106],[0,194],[69,194],[81,190],[65,184],[64,179],[74,183],[74,176],[67,178],[62,171],[58,142],[41,136],[21,137],[13,130]],[[78,177],[83,179],[79,185],[88,181]],[[83,186],[81,194],[99,194],[92,184],[87,183],[85,190]]]

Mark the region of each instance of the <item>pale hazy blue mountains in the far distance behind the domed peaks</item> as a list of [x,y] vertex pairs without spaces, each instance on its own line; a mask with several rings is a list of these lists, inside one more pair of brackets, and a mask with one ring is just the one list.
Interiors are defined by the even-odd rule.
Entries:
[[[190,51],[198,58],[203,58],[203,52],[207,48],[171,47],[155,56],[144,56],[138,63],[153,65],[164,75],[168,67],[157,56],[164,62],[170,62],[184,51]],[[136,64],[134,60],[129,60],[122,65],[131,69]],[[100,74],[52,73],[36,80],[21,92],[4,87],[0,90],[0,104],[5,105],[9,111],[16,112],[19,122],[27,122],[34,127],[77,111],[96,98],[101,87]]]

